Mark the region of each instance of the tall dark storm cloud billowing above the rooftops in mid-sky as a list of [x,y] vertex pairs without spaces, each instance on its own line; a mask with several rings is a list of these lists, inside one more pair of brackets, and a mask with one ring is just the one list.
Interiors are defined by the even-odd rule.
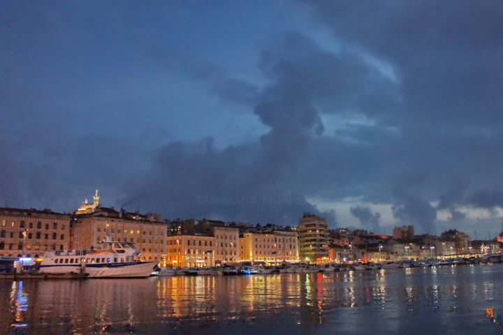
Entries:
[[[210,64],[195,72],[194,67],[185,67],[189,75],[196,73],[198,80],[206,82],[210,91],[218,87],[215,82],[231,77]],[[342,106],[356,101],[360,86],[375,86],[379,91],[379,84],[387,80],[353,54],[323,50],[296,31],[272,39],[261,52],[258,68],[267,82],[256,89],[249,107],[269,131],[257,142],[225,149],[215,148],[211,138],[168,144],[156,156],[147,181],[151,186],[138,186],[140,193],[147,190],[145,197],[133,203],[147,207],[161,201],[156,207],[163,207],[170,216],[212,214],[286,224],[296,221],[303,211],[319,213],[303,198],[321,186],[317,182],[309,185],[309,179],[324,177],[330,182],[339,176],[327,174],[330,167],[316,154],[325,131],[316,105],[335,101],[333,113],[340,112]],[[236,89],[243,87],[249,92],[246,87],[251,85]],[[225,97],[226,89],[215,93]],[[361,96],[366,96],[365,91]],[[321,166],[321,175],[314,176],[313,163]],[[209,201],[196,203],[198,199]],[[227,205],[217,203],[225,199]],[[335,213],[323,215],[335,224]]]

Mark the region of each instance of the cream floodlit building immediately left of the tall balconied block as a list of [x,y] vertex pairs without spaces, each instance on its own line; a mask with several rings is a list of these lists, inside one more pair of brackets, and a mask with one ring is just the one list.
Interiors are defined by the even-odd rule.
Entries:
[[251,262],[298,262],[298,234],[245,232],[240,237],[240,260]]

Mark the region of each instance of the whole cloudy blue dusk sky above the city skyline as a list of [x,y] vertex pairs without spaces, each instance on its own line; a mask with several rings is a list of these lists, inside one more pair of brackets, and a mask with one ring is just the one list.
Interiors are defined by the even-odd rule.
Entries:
[[503,3],[1,1],[0,206],[493,238]]

